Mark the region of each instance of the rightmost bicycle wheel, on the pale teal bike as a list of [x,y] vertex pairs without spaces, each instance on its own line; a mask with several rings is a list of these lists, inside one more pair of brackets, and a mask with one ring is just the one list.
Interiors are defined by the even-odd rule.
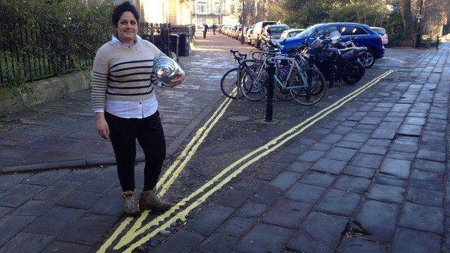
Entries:
[[314,105],[325,96],[326,81],[323,74],[311,67],[295,70],[289,79],[288,89],[294,100],[302,105]]

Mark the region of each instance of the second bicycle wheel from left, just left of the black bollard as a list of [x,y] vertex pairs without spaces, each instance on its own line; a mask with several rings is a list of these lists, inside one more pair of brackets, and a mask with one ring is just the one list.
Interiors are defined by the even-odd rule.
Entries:
[[262,100],[267,95],[267,73],[262,70],[262,74],[258,76],[262,65],[254,64],[245,67],[241,74],[242,93],[250,101]]

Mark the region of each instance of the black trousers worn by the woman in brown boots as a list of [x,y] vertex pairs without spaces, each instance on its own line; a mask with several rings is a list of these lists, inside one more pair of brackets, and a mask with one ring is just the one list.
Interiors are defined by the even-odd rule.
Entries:
[[158,182],[166,155],[160,113],[157,111],[143,119],[124,119],[105,112],[105,119],[110,128],[110,140],[122,190],[134,190],[135,187],[136,138],[146,156],[143,190],[152,190]]

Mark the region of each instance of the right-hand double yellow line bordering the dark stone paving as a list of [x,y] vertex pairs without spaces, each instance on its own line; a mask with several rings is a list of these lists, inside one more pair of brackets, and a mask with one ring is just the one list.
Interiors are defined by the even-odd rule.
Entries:
[[[142,233],[145,233],[145,231],[148,228],[151,228],[152,226],[158,225],[158,223],[160,223],[160,221],[165,220],[168,216],[170,216],[173,212],[175,212],[176,209],[179,209],[181,206],[185,205],[186,202],[191,200],[196,195],[202,193],[203,190],[205,190],[206,188],[212,186],[213,183],[219,182],[217,184],[217,186],[214,186],[212,189],[210,189],[203,196],[200,196],[198,198],[198,200],[195,200],[191,205],[186,207],[186,209],[181,210],[181,212],[179,212],[178,214],[173,216],[171,219],[169,219],[169,221],[166,221],[165,223],[163,223],[158,228],[155,228],[155,230],[153,230],[152,232],[148,233],[146,236],[144,236],[143,238],[141,238],[140,240],[138,240],[137,242],[132,244],[130,247],[125,249],[123,252],[132,252],[134,249],[136,249],[136,247],[139,247],[143,243],[145,243],[148,240],[150,240],[150,238],[152,238],[156,234],[158,234],[161,231],[163,231],[166,228],[168,228],[171,223],[175,222],[178,219],[185,220],[186,216],[188,215],[189,212],[191,212],[193,209],[195,209],[195,207],[198,207],[198,205],[200,205],[201,203],[205,202],[205,200],[207,200],[207,197],[210,197],[210,195],[212,195],[217,190],[219,190],[221,187],[223,187],[226,183],[231,181],[231,179],[233,179],[234,177],[238,176],[238,174],[240,174],[246,167],[250,166],[254,162],[257,162],[262,157],[264,157],[266,155],[269,155],[269,153],[271,153],[274,150],[276,150],[276,148],[281,147],[281,145],[283,145],[284,143],[290,141],[292,138],[295,138],[295,136],[297,136],[298,134],[301,134],[304,130],[308,129],[310,126],[312,126],[316,122],[319,122],[319,120],[323,119],[323,117],[328,116],[331,112],[334,112],[335,110],[338,110],[339,108],[342,107],[342,105],[345,105],[345,103],[349,102],[349,100],[352,100],[356,96],[359,96],[362,92],[366,91],[366,89],[369,89],[371,86],[377,84],[378,82],[380,82],[381,79],[387,77],[389,74],[392,74],[392,72],[394,72],[394,71],[395,70],[389,70],[389,71],[381,74],[380,76],[378,76],[375,79],[373,79],[371,82],[368,82],[364,86],[361,86],[359,89],[356,89],[352,93],[349,93],[347,96],[341,98],[340,100],[336,101],[332,105],[330,105],[327,108],[325,108],[325,109],[321,110],[320,112],[316,113],[316,115],[310,117],[309,119],[306,119],[304,122],[302,122],[300,124],[297,124],[297,126],[294,126],[293,128],[289,129],[288,131],[285,131],[285,133],[283,133],[280,136],[274,138],[272,141],[269,141],[269,143],[266,143],[262,147],[257,148],[256,150],[252,151],[248,155],[245,155],[244,157],[240,158],[240,160],[238,160],[236,162],[233,162],[233,164],[231,164],[229,167],[226,167],[226,169],[224,169],[219,174],[217,174],[217,176],[214,176],[213,179],[211,179],[210,181],[205,183],[202,187],[198,188],[198,190],[196,190],[194,193],[191,193],[191,195],[189,195],[188,197],[185,197],[183,200],[181,200],[179,203],[177,203],[174,207],[172,207],[172,209],[170,209],[169,211],[165,212],[165,214],[162,214],[162,216],[156,217],[153,221],[150,221],[150,223],[146,224],[146,226],[143,226],[143,228],[139,229],[139,231],[136,231],[135,235],[138,236],[138,235],[140,235]],[[231,171],[238,164],[244,162],[249,157],[252,157],[253,155],[256,155],[259,152],[262,152],[262,153],[260,153],[256,157],[253,157],[250,161],[246,162],[241,167],[239,167],[238,169],[233,171],[229,176],[226,176],[225,179],[219,180],[221,178],[221,176],[224,176],[224,174],[226,174],[229,171]],[[128,242],[131,242],[131,240],[133,240],[134,238],[132,238],[131,240],[129,240],[130,238],[127,238],[127,239],[128,239],[127,240]],[[126,244],[116,245],[116,247],[114,247],[114,249],[120,249],[124,245],[126,245]]]

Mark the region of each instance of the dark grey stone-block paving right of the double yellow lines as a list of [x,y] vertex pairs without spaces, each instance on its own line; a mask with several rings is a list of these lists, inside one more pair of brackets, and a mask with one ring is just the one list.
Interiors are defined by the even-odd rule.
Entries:
[[152,252],[448,252],[449,63],[425,51]]

